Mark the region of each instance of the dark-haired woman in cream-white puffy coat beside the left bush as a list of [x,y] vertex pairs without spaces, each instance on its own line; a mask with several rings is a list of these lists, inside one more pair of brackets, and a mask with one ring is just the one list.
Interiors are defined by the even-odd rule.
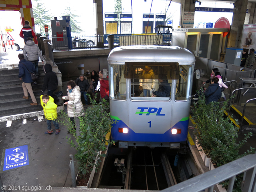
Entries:
[[84,115],[84,106],[81,101],[81,92],[79,86],[74,81],[68,82],[68,96],[63,96],[62,99],[68,100],[64,104],[67,105],[68,117],[70,118],[72,127],[74,127],[74,118]]

